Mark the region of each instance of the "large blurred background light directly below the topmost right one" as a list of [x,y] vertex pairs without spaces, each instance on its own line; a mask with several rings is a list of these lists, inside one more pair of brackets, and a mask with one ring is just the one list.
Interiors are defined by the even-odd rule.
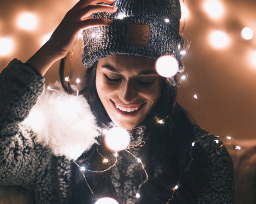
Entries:
[[209,43],[214,49],[223,49],[229,46],[230,38],[226,33],[215,30],[210,33]]

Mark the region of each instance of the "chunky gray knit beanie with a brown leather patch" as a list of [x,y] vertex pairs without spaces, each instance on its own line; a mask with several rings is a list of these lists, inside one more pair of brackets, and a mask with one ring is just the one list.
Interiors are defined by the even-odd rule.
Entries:
[[179,0],[116,0],[114,14],[95,13],[92,18],[112,19],[110,26],[98,26],[83,31],[85,47],[82,63],[93,65],[108,55],[124,54],[157,59],[163,55],[175,57],[183,71],[179,34],[181,7]]

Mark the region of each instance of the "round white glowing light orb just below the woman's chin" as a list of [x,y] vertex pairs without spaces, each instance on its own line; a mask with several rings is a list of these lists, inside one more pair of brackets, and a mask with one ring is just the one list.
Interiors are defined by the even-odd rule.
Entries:
[[106,145],[115,151],[121,151],[130,144],[130,135],[124,128],[111,128],[105,136]]

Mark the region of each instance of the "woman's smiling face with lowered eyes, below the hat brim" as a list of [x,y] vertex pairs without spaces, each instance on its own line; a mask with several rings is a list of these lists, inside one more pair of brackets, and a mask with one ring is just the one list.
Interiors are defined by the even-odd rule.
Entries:
[[155,60],[109,55],[98,60],[96,89],[111,120],[126,130],[135,128],[160,97],[160,76]]

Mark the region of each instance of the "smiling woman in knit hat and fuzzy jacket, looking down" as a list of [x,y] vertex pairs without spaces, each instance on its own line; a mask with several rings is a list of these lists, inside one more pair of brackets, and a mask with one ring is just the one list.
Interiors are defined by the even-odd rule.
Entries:
[[[175,103],[175,76],[155,72],[155,60],[163,55],[175,57],[182,71],[180,16],[178,0],[81,0],[26,63],[10,62],[0,75],[1,184],[28,188],[35,203],[95,203],[102,197],[120,204],[234,203],[233,164],[226,148]],[[118,126],[131,136],[130,148],[118,152],[116,164],[103,133],[86,141],[90,145],[79,158],[71,157],[73,162],[57,147],[43,145],[47,139],[23,123],[42,95],[43,75],[72,50],[82,30],[82,62],[89,68],[80,94],[96,118],[94,129]],[[60,78],[70,94],[75,91],[65,81],[64,61]],[[130,153],[148,174],[141,187],[146,175]]]

